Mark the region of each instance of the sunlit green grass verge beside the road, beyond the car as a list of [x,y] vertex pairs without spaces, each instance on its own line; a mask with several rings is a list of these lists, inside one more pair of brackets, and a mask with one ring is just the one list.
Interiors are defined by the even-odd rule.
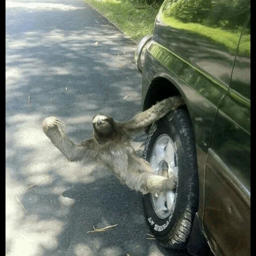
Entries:
[[129,0],[85,0],[116,27],[135,41],[152,33],[160,6],[142,5]]

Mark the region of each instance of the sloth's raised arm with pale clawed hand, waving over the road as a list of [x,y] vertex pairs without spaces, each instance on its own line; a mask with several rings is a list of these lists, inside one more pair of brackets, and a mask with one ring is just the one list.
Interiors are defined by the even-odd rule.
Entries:
[[54,116],[47,117],[42,122],[42,130],[52,144],[69,160],[79,161],[82,158],[93,159],[92,141],[87,139],[75,144],[63,130],[64,123]]

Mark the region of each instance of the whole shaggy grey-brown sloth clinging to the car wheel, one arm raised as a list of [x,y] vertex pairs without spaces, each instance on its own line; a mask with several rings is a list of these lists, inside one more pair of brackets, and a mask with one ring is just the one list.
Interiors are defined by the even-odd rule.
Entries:
[[106,114],[96,114],[92,118],[91,137],[79,143],[67,137],[64,123],[54,116],[43,120],[42,129],[67,160],[101,163],[129,188],[142,194],[157,194],[174,189],[177,176],[173,171],[168,177],[154,174],[150,164],[136,155],[130,139],[182,104],[180,96],[168,97],[123,122]]

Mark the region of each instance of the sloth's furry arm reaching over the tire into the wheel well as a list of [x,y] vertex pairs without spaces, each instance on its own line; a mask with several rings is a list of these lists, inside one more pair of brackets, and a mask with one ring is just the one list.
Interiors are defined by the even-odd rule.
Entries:
[[168,97],[151,106],[147,110],[137,113],[130,120],[122,122],[121,126],[128,132],[139,131],[162,118],[170,110],[174,110],[183,104],[184,101],[180,96]]

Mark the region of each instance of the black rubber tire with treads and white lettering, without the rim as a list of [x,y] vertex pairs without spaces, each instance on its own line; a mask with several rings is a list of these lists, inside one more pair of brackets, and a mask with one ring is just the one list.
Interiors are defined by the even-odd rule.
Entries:
[[198,207],[198,174],[192,124],[186,110],[178,108],[152,124],[145,143],[143,158],[150,161],[156,139],[167,134],[176,145],[178,183],[175,206],[168,217],[159,218],[151,194],[143,196],[147,223],[160,244],[171,249],[186,247],[194,214]]

